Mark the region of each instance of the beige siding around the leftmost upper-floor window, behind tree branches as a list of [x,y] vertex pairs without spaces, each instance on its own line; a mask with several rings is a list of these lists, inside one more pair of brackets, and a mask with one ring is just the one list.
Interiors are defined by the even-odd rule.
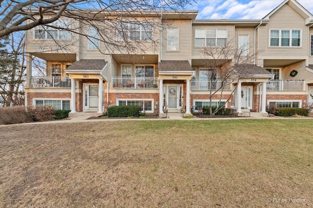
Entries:
[[[30,21],[27,21],[29,23]],[[77,28],[78,22],[71,19],[71,28]],[[78,51],[78,35],[70,33],[70,39],[35,39],[34,28],[26,31],[26,53],[68,53],[75,54]]]

